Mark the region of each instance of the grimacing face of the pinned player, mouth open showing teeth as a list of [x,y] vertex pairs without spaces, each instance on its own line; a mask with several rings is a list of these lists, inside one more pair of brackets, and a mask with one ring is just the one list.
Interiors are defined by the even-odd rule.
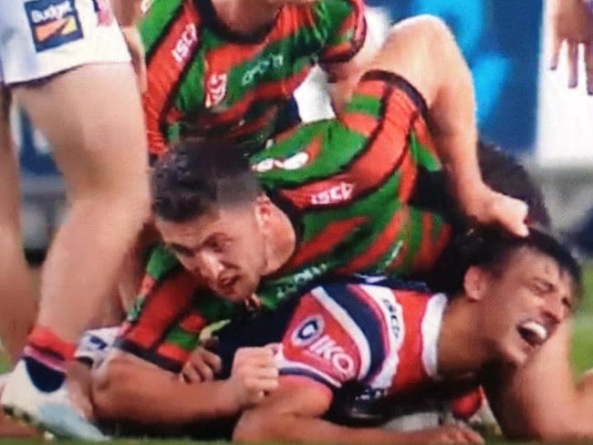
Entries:
[[517,249],[501,269],[477,271],[483,295],[475,322],[485,346],[518,366],[571,315],[573,280],[555,259],[530,247]]

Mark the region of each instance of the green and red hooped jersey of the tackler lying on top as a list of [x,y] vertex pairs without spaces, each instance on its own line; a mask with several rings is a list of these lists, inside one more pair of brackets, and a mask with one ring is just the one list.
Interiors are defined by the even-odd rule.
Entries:
[[[423,109],[405,80],[373,71],[338,119],[301,125],[252,156],[298,240],[282,270],[263,278],[257,290],[263,305],[274,308],[321,278],[401,276],[432,266],[450,226],[438,214],[407,205],[418,169],[440,168]],[[242,310],[201,289],[159,247],[118,345],[178,371],[205,326]]]

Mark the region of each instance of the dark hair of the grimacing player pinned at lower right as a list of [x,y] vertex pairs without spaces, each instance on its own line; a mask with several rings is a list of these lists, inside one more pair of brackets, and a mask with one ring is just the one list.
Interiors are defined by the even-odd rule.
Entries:
[[488,229],[455,237],[438,261],[437,267],[441,267],[445,273],[440,275],[440,282],[432,283],[432,287],[453,295],[463,289],[463,275],[469,267],[480,266],[494,274],[500,274],[512,255],[523,247],[553,258],[560,269],[571,276],[575,295],[580,297],[582,271],[577,258],[570,252],[567,244],[541,225],[532,226],[525,238]]

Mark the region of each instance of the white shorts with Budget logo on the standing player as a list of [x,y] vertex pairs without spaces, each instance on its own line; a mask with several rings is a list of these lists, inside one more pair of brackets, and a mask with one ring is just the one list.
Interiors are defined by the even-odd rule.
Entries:
[[109,0],[0,0],[0,84],[128,61]]

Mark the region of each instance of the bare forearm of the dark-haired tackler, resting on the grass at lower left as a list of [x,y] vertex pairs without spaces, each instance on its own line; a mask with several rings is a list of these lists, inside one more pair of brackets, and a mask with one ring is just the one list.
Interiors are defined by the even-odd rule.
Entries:
[[224,381],[189,385],[167,371],[109,364],[95,379],[93,398],[100,419],[183,425],[233,416],[239,407]]

